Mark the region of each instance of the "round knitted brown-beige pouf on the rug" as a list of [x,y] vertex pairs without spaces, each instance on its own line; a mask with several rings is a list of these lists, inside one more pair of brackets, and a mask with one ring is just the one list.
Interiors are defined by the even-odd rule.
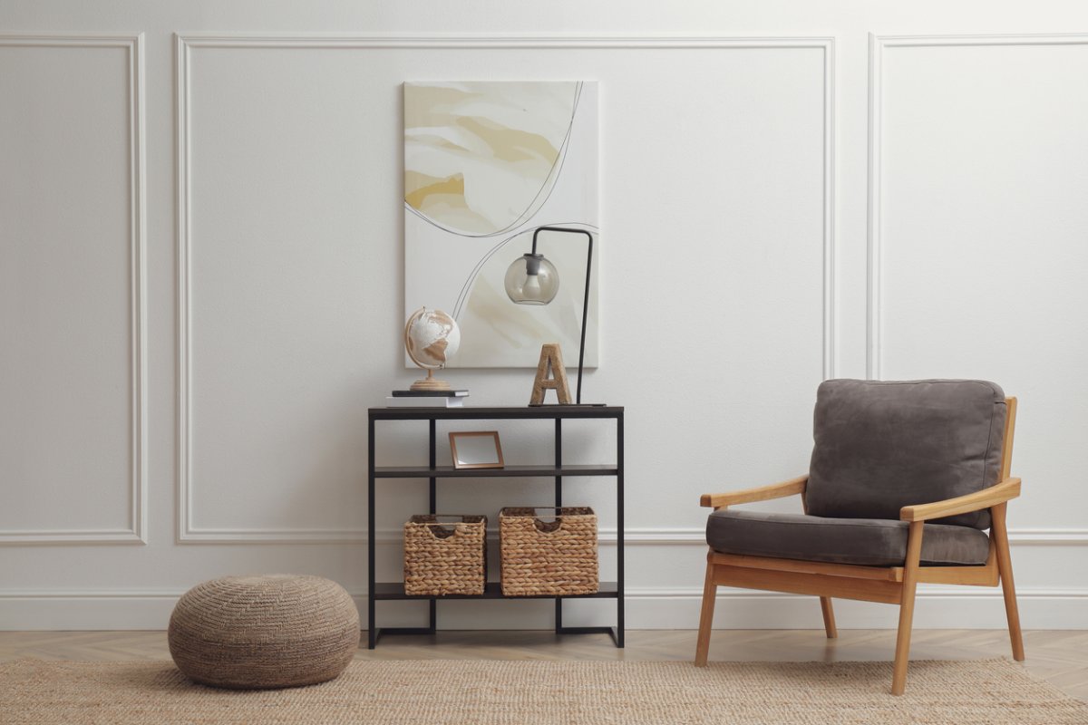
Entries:
[[359,647],[359,612],[319,576],[227,576],[189,589],[170,616],[170,655],[215,687],[298,687],[333,679]]

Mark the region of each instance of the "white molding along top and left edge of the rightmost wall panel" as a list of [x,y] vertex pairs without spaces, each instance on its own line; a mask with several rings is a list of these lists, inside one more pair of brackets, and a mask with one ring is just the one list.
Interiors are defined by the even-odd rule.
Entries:
[[868,379],[883,373],[883,234],[881,174],[883,143],[883,53],[889,48],[993,46],[1080,46],[1088,34],[1013,35],[876,35],[869,34],[869,171],[868,171],[868,293],[866,296],[866,361]]

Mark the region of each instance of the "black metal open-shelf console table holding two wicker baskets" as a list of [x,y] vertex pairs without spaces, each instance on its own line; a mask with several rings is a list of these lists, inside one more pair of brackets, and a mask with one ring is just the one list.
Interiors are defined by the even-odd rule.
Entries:
[[[524,408],[371,408],[368,430],[370,484],[367,512],[367,558],[369,564],[368,584],[368,647],[374,649],[382,635],[434,634],[437,621],[438,599],[555,599],[555,632],[557,634],[611,635],[616,647],[623,647],[623,408],[593,405],[544,405]],[[562,422],[569,420],[604,418],[616,422],[616,463],[603,465],[564,465]],[[555,421],[554,465],[507,464],[503,468],[455,468],[438,465],[435,459],[437,421]],[[380,466],[375,465],[374,424],[378,421],[426,421],[430,429],[430,458],[426,466]],[[430,513],[436,513],[438,478],[493,478],[546,476],[555,479],[555,505],[562,505],[564,476],[611,476],[616,479],[616,582],[602,582],[599,590],[592,595],[505,597],[497,582],[489,582],[481,596],[449,595],[444,597],[409,596],[405,593],[404,582],[374,580],[374,485],[379,478],[426,478],[430,480]],[[615,599],[615,627],[565,627],[562,626],[564,599]],[[374,618],[374,604],[380,600],[430,601],[430,623],[426,627],[382,627]]]

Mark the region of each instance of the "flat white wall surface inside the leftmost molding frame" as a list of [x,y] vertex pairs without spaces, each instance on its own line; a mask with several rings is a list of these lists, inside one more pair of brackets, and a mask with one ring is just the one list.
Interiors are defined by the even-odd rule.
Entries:
[[140,535],[137,52],[0,38],[0,541]]

